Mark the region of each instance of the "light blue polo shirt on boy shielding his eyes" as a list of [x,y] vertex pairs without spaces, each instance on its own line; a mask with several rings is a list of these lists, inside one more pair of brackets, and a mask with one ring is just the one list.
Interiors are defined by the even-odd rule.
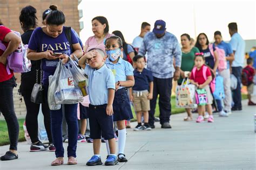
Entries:
[[107,104],[109,89],[115,89],[114,75],[104,64],[99,70],[86,64],[84,73],[89,77],[89,99],[92,105]]

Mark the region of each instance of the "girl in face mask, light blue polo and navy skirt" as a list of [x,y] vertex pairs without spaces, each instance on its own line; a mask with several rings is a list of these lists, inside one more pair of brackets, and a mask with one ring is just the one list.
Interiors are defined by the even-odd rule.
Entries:
[[127,162],[124,154],[126,141],[125,120],[133,118],[130,100],[127,96],[127,87],[134,85],[133,67],[120,57],[123,51],[123,43],[120,37],[112,36],[107,38],[105,46],[107,54],[105,63],[112,70],[116,81],[113,121],[117,122],[118,128],[118,161]]

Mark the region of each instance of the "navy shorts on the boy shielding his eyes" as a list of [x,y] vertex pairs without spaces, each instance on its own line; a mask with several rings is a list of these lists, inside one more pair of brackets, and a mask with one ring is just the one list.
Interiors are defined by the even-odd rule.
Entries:
[[90,137],[92,139],[113,139],[113,116],[106,114],[105,105],[89,105]]

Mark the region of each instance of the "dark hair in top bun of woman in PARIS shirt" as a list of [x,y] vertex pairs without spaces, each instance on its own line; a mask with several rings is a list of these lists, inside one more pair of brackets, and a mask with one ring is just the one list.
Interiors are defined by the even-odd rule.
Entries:
[[51,12],[46,16],[46,24],[48,25],[62,25],[65,23],[66,18],[62,11],[58,10],[56,5],[51,5],[49,7]]

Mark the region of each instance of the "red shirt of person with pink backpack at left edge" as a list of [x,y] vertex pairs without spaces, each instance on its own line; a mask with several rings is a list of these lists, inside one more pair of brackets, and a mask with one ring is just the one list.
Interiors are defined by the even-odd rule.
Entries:
[[[0,25],[0,40],[2,42],[3,42],[6,34],[8,34],[9,32],[11,32],[11,30],[9,28],[6,28],[5,26]],[[7,47],[9,43],[3,42],[3,44]],[[4,53],[4,51],[0,50],[0,56],[2,56],[3,53]],[[11,74],[9,75],[6,70],[6,66],[3,65],[2,63],[0,63],[0,82],[9,80],[10,78],[12,78],[14,76],[14,72],[12,70],[10,70],[10,71],[11,71]]]

